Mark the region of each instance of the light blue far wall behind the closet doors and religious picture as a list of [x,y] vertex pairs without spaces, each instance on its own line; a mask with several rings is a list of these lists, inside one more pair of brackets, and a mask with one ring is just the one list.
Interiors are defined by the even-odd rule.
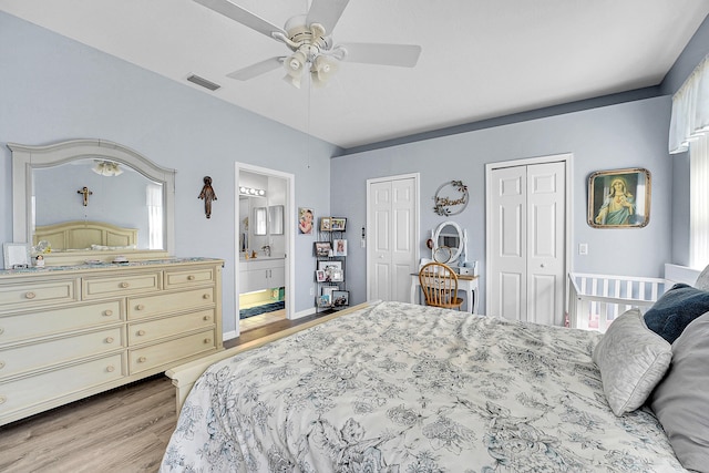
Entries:
[[[445,218],[433,213],[433,194],[444,182],[462,179],[470,205],[452,219],[469,232],[469,260],[485,256],[485,164],[573,153],[573,248],[588,244],[588,256],[574,251],[577,271],[660,276],[670,259],[671,160],[667,153],[669,97],[655,97],[583,112],[443,136],[332,160],[332,212],[349,217],[348,238],[359,240],[366,224],[367,178],[421,173],[421,256],[428,232]],[[649,225],[597,229],[586,224],[587,181],[599,169],[645,167],[653,176]],[[353,301],[366,298],[366,250],[348,249],[348,280]],[[485,281],[481,281],[484,307]]]

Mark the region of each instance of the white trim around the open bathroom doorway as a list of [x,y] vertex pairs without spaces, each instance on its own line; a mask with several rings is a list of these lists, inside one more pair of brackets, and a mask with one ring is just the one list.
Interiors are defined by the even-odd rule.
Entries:
[[234,291],[236,297],[235,307],[234,307],[234,318],[236,326],[236,337],[239,336],[239,236],[238,236],[238,223],[240,222],[239,215],[239,175],[240,172],[249,172],[254,174],[263,174],[265,176],[278,177],[286,181],[286,205],[284,212],[284,235],[286,237],[286,260],[285,260],[285,271],[286,271],[286,318],[292,319],[294,306],[292,306],[292,295],[296,294],[296,288],[294,287],[296,284],[296,268],[294,256],[296,255],[296,239],[294,236],[294,228],[296,228],[296,224],[294,222],[294,216],[296,215],[296,176],[295,174],[284,173],[281,171],[269,169],[267,167],[255,166],[253,164],[246,163],[235,163],[235,205],[234,205],[234,224],[236,225],[234,229],[234,254],[236,256],[235,261],[235,270],[234,270]]

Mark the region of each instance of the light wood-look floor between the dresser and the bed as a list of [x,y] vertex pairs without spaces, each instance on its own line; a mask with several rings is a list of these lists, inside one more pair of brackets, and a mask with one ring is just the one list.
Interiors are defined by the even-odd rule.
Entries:
[[[224,346],[316,317],[255,328]],[[156,472],[176,423],[174,388],[156,376],[0,426],[0,472]]]

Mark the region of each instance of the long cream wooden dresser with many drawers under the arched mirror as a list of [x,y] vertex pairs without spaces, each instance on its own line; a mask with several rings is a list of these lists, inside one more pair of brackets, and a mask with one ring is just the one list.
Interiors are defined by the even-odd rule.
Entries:
[[222,350],[223,264],[0,271],[0,425]]

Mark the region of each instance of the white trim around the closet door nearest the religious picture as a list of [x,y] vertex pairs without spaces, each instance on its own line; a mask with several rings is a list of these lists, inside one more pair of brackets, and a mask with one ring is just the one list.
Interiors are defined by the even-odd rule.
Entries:
[[[490,203],[492,198],[492,172],[494,169],[500,169],[503,167],[514,167],[514,166],[528,166],[534,164],[546,164],[546,163],[557,163],[563,162],[565,164],[566,171],[566,248],[564,250],[564,275],[568,275],[572,270],[572,248],[573,248],[573,209],[574,209],[574,186],[573,186],[573,153],[562,153],[562,154],[552,154],[548,156],[537,156],[537,157],[527,157],[522,160],[513,160],[513,161],[501,161],[497,163],[487,163],[485,164],[485,313],[491,312],[491,282],[492,282],[492,270],[490,261],[492,260],[492,248],[490,245],[492,238],[492,210],[490,208]],[[564,306],[566,306],[568,301],[568,288],[567,285],[564,285]],[[565,310],[567,308],[565,307]],[[562,320],[563,321],[563,320]],[[558,321],[557,321],[558,322]]]

